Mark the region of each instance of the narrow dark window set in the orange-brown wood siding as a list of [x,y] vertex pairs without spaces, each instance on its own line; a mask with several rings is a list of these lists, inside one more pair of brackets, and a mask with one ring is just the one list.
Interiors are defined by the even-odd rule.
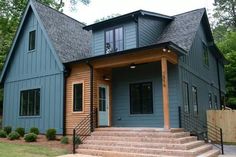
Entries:
[[73,111],[83,111],[83,84],[74,84],[74,104]]

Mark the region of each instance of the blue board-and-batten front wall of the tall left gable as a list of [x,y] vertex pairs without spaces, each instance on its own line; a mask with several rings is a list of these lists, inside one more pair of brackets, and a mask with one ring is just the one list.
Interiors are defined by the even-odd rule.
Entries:
[[[29,31],[36,30],[36,48],[28,51]],[[3,124],[40,133],[55,128],[63,131],[63,72],[46,40],[40,24],[29,10],[17,39],[4,81]],[[20,116],[21,90],[40,88],[40,115]]]

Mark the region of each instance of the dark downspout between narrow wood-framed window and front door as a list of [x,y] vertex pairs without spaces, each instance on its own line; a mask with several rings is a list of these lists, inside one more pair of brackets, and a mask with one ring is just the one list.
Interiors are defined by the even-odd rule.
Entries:
[[90,69],[90,131],[93,132],[93,65],[87,61]]

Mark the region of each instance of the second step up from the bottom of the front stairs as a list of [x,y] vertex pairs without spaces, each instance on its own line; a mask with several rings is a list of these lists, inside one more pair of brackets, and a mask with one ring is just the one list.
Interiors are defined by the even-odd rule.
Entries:
[[[201,146],[202,147],[202,146]],[[206,146],[204,146],[206,147]],[[79,146],[78,149],[93,149],[93,150],[102,150],[102,151],[118,151],[125,153],[141,153],[141,154],[151,154],[151,155],[169,155],[169,156],[183,156],[183,157],[195,157],[195,154],[202,153],[202,149],[194,151],[188,150],[174,150],[174,149],[153,149],[153,148],[136,148],[136,147],[119,147],[119,146],[103,146],[103,145],[92,145],[84,144]],[[206,150],[206,148],[205,148]]]

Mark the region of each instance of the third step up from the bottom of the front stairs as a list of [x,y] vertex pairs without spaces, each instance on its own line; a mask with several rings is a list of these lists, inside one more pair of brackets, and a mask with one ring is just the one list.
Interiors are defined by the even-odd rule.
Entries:
[[188,150],[199,147],[204,144],[203,141],[192,141],[185,144],[176,143],[146,143],[146,142],[129,142],[129,141],[106,141],[106,140],[86,140],[84,144],[103,145],[103,146],[120,146],[136,148],[156,148],[156,149],[179,149]]

